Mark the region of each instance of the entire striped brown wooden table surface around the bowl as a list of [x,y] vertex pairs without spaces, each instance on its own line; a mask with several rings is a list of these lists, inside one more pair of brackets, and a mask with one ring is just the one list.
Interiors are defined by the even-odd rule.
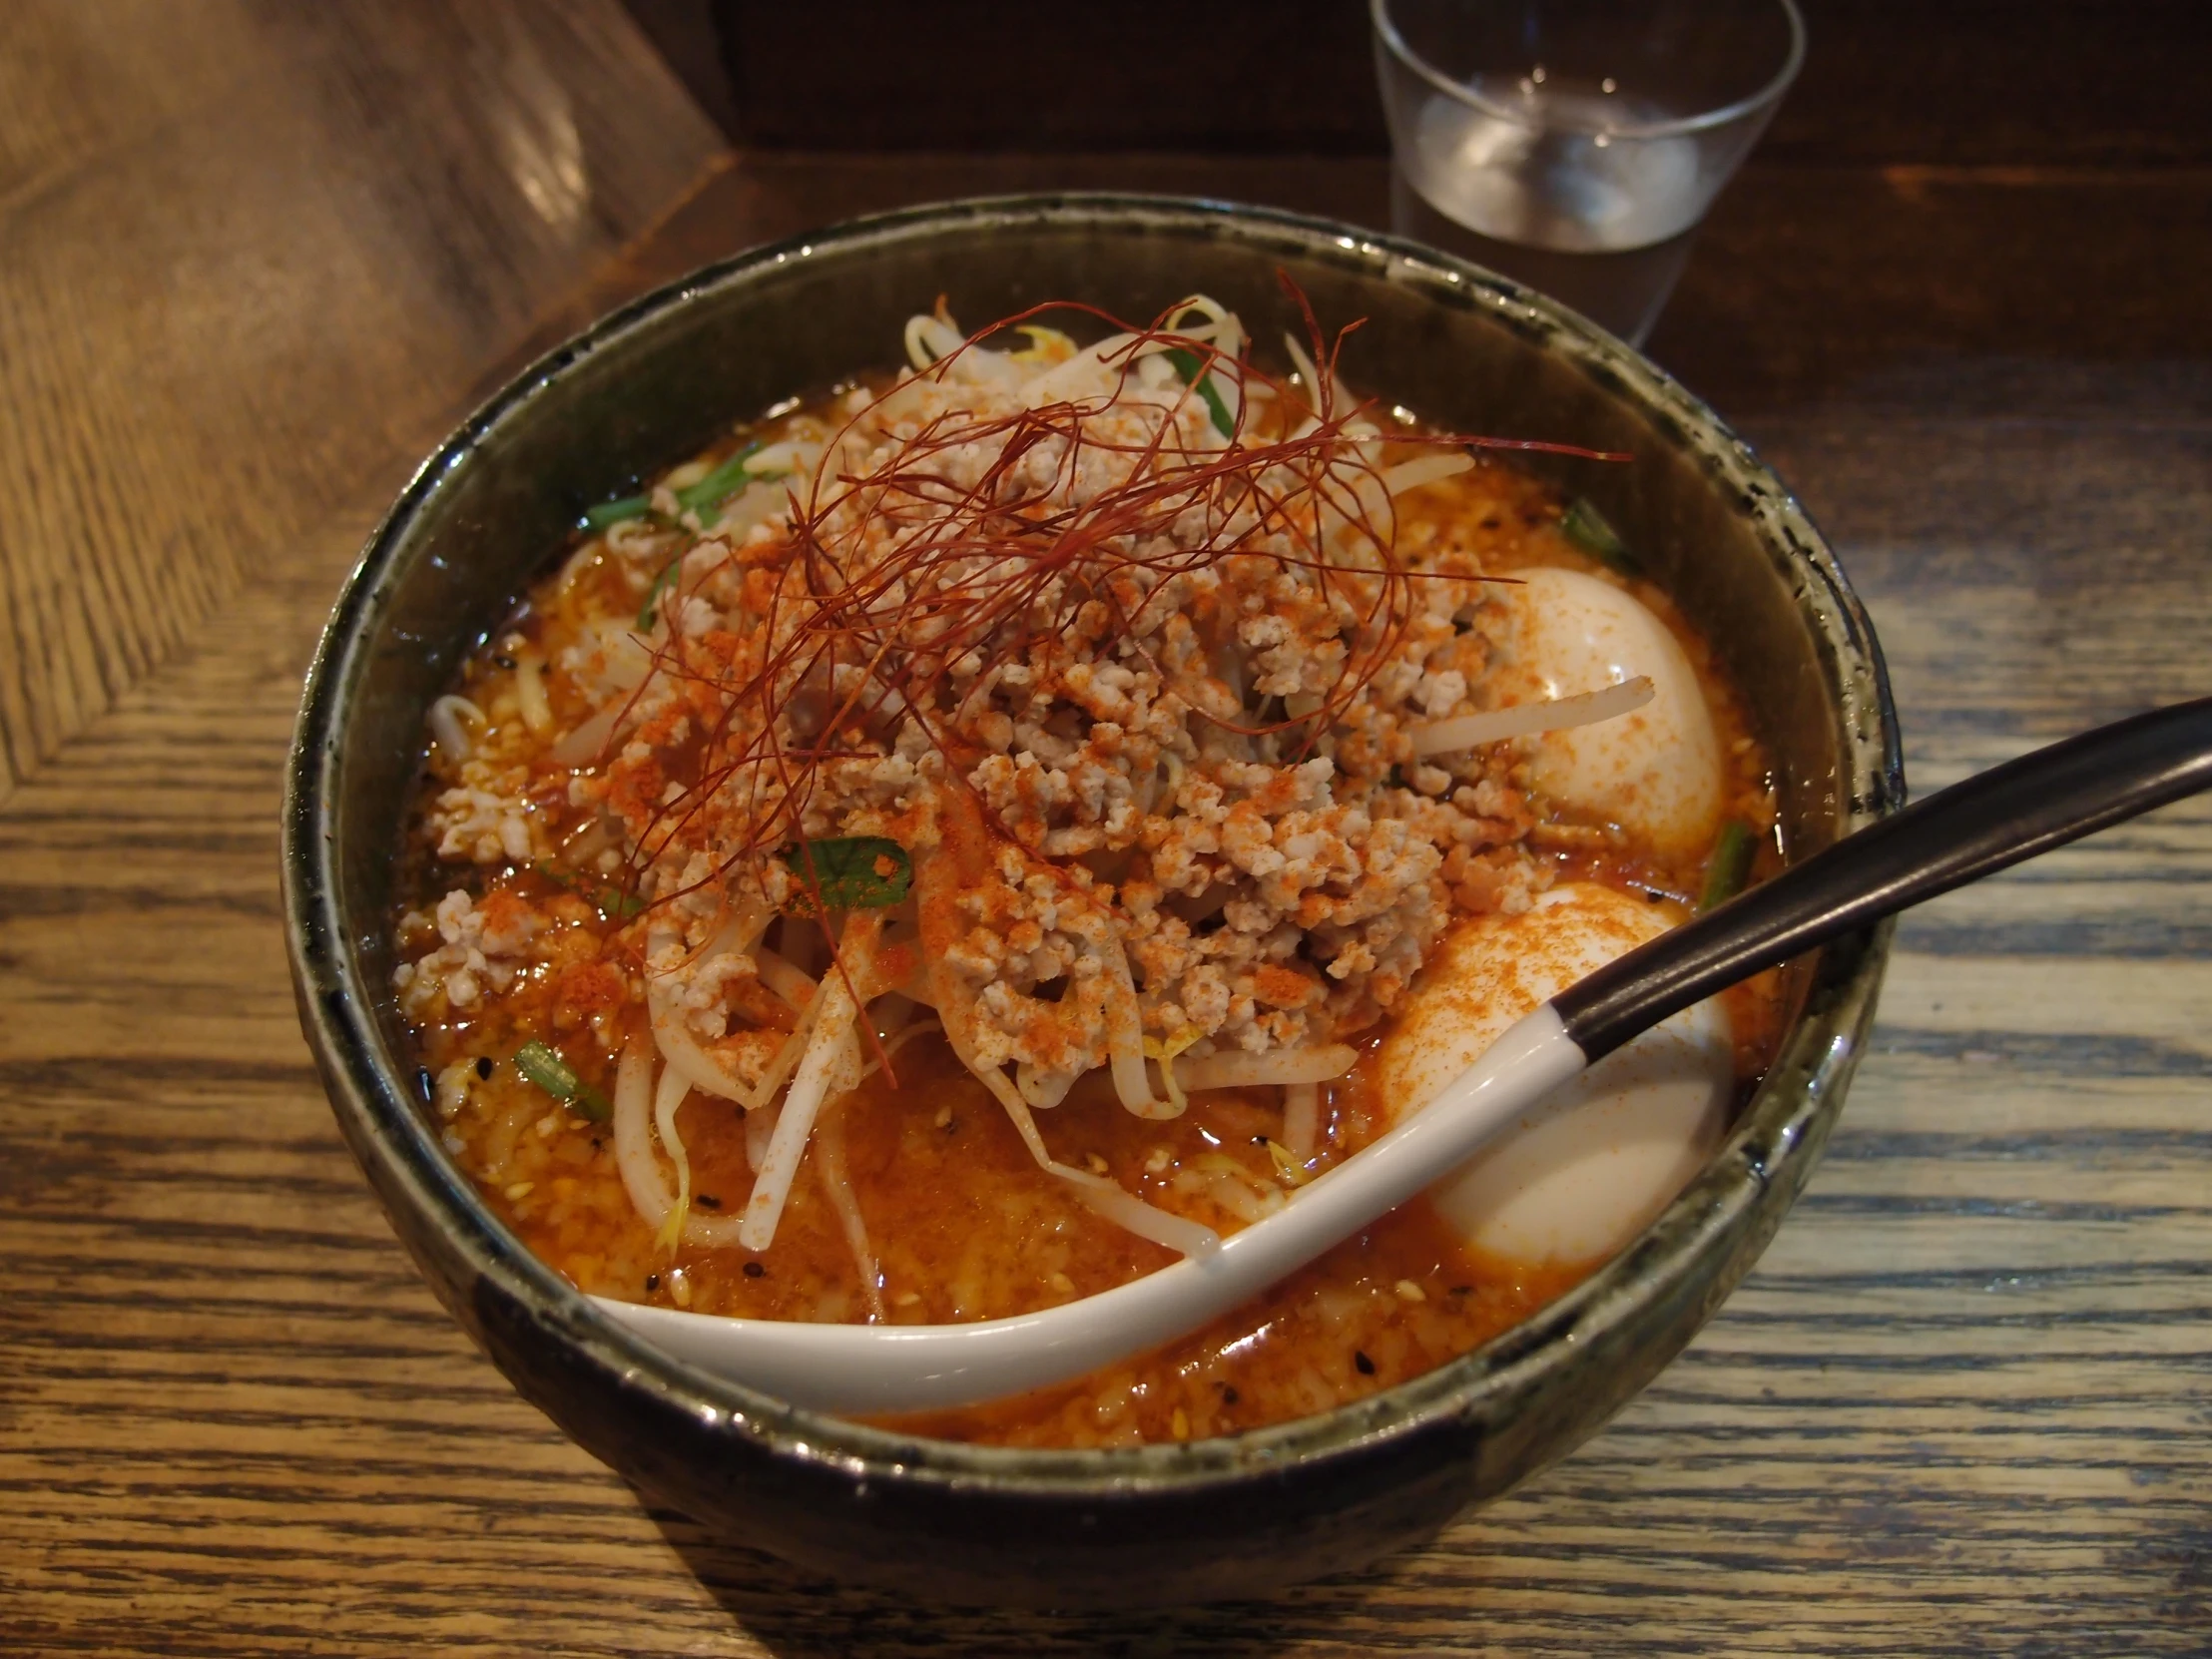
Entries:
[[[0,1650],[2212,1652],[2212,803],[1911,916],[1743,1290],[1371,1573],[896,1604],[653,1506],[469,1349],[285,982],[279,774],[338,580],[595,310],[1055,186],[1385,210],[1365,157],[732,153],[608,0],[9,7]],[[2208,270],[2203,157],[1785,153],[1714,212],[1650,349],[1836,540],[1918,787],[2212,692]]]

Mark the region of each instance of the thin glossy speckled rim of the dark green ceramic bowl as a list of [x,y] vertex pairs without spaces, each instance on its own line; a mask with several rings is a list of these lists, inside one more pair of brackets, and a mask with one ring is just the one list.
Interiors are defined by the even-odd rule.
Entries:
[[[1840,814],[1845,827],[1871,821],[1902,803],[1902,763],[1896,712],[1880,648],[1825,538],[1772,471],[1672,376],[1597,325],[1506,276],[1442,254],[1422,243],[1276,208],[1214,199],[1128,192],[1040,192],[967,197],[865,215],[821,230],[741,250],[664,283],[555,345],[491,394],[416,469],[389,513],[369,535],[345,580],[307,672],[290,761],[285,768],[281,885],[285,945],[299,991],[301,1024],[321,1062],[332,1110],[385,1203],[405,1201],[429,1219],[458,1250],[478,1281],[489,1281],[557,1338],[575,1347],[624,1391],[641,1391],[675,1413],[754,1440],[801,1462],[834,1467],[843,1475],[902,1480],[995,1491],[1013,1498],[1130,1495],[1263,1480],[1287,1464],[1354,1455],[1444,1418],[1473,1418],[1489,1398],[1504,1398],[1553,1363],[1562,1349],[1595,1340],[1606,1327],[1632,1318],[1646,1301],[1683,1279],[1708,1245],[1725,1241],[1763,1186],[1803,1181],[1825,1139],[1829,1099],[1856,1064],[1856,1044],[1820,1033],[1798,1018],[1783,1053],[1739,1113],[1730,1139],[1705,1170],[1668,1206],[1644,1237],[1571,1292],[1500,1332],[1489,1343],[1422,1376],[1365,1400],[1310,1418],[1206,1440],[1115,1449],[1024,1449],[929,1440],[847,1418],[803,1411],[768,1394],[695,1369],[664,1354],[593,1307],[591,1298],[544,1265],[511,1234],[442,1148],[436,1128],[414,1104],[396,1055],[385,1048],[374,1013],[376,991],[358,969],[347,918],[338,909],[336,774],[338,739],[352,708],[352,688],[367,666],[367,639],[385,588],[403,571],[409,529],[440,491],[467,467],[471,451],[502,422],[526,416],[531,403],[586,358],[619,349],[624,338],[664,312],[706,303],[799,259],[865,257],[869,248],[991,226],[1055,223],[1150,228],[1186,237],[1230,237],[1298,259],[1356,265],[1369,274],[1422,283],[1436,299],[1455,299],[1493,312],[1515,332],[1542,338],[1546,349],[1601,374],[1644,414],[1672,416],[1686,440],[1697,440],[1708,465],[1719,465],[1745,489],[1761,515],[1770,551],[1785,546],[1816,577],[1816,595],[1801,611],[1820,606],[1807,626],[1827,635],[1836,653],[1827,672],[1829,695],[1843,697],[1838,719],[1849,728],[1851,697],[1865,699],[1860,723],[1840,732]],[[1854,679],[1856,677],[1856,679]],[[1871,717],[1871,730],[1865,723]],[[1823,956],[1816,989],[1843,1009],[1865,1009],[1880,980],[1882,936],[1863,936],[1860,949],[1838,973]],[[1838,947],[1832,947],[1836,951]],[[1827,984],[1834,980],[1834,984]],[[1843,1033],[1849,1035],[1849,1033]],[[387,1064],[389,1062],[389,1064]],[[1778,1099],[1781,1079],[1794,1099]],[[1756,1148],[1747,1148],[1759,1128]],[[1796,1161],[1796,1170],[1785,1164]]]

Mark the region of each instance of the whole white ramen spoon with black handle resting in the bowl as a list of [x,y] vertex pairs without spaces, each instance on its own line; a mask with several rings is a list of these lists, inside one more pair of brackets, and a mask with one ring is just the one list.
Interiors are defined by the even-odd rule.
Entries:
[[1668,1015],[1924,898],[2212,787],[2212,697],[2104,726],[1845,836],[1568,987],[1274,1214],[1097,1296],[971,1325],[805,1325],[595,1296],[703,1371],[816,1411],[927,1411],[1066,1383],[1188,1336],[1464,1164]]

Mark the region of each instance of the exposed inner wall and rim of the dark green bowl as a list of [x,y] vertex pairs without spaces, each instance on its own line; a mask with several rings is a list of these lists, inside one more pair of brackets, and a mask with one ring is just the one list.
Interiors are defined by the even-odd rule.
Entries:
[[[1360,321],[1340,363],[1352,387],[1458,431],[1635,456],[1628,465],[1531,456],[1528,465],[1566,493],[1588,495],[1712,639],[1778,761],[1794,852],[1827,845],[1898,799],[1880,657],[1796,502],[1652,365],[1504,279],[1343,226],[1102,197],[914,210],[743,254],[613,314],[456,434],[369,544],[310,681],[288,810],[303,1018],[341,1124],[403,1237],[425,1265],[434,1254],[442,1261],[434,1281],[440,1272],[493,1276],[566,1332],[580,1365],[619,1369],[630,1387],[721,1413],[745,1433],[781,1436],[790,1455],[1029,1486],[1250,1473],[1526,1391],[1533,1369],[1559,1363],[1575,1334],[1615,1329],[1626,1343],[1666,1325],[1666,1340],[1637,1349],[1652,1363],[1628,1367],[1641,1376],[1688,1340],[1809,1168],[1840,1097],[1823,1077],[1840,1084],[1849,1068],[1838,1035],[1849,1037],[1871,1011],[1878,951],[1865,940],[1798,964],[1801,1015],[1783,1064],[1739,1126],[1736,1161],[1708,1170],[1644,1245],[1522,1332],[1429,1378],[1194,1451],[916,1444],[792,1413],[692,1374],[599,1318],[522,1252],[445,1161],[407,1084],[385,916],[422,714],[458,661],[560,555],[586,504],[626,493],[779,398],[896,367],[905,319],[938,294],[973,327],[1068,296],[1146,321],[1208,292],[1243,316],[1263,365],[1287,367],[1281,336],[1303,336],[1303,325],[1281,274],[1303,288],[1325,330]],[[1756,1170],[1743,1159],[1756,1159]],[[440,1287],[482,1336],[465,1292]],[[1630,1389],[1641,1376],[1624,1371]],[[1544,1458],[1619,1398],[1562,1409]]]

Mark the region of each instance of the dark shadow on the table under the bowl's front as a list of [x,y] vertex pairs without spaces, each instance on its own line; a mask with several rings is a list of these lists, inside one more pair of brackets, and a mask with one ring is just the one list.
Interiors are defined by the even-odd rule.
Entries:
[[[633,1489],[635,1491],[635,1489]],[[726,1544],[706,1526],[639,1493],[646,1515],[721,1608],[776,1659],[891,1659],[894,1655],[998,1655],[1024,1659],[1102,1655],[1166,1659],[1179,1652],[1261,1655],[1296,1632],[1329,1635],[1347,1652],[1369,1650],[1369,1599],[1391,1595],[1389,1568],[1307,1584],[1272,1601],[1130,1613],[940,1608],[887,1590],[816,1577],[761,1551]],[[1340,1626],[1332,1630],[1332,1626]]]

